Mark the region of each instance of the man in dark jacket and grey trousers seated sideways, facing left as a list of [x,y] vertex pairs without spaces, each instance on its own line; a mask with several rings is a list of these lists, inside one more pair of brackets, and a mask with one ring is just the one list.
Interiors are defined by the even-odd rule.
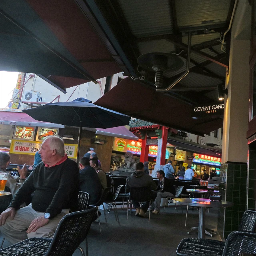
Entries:
[[153,214],[160,213],[160,204],[162,198],[172,197],[175,194],[174,186],[172,186],[171,181],[164,177],[164,171],[159,170],[156,172],[158,180],[158,186],[156,188],[157,196],[154,202]]

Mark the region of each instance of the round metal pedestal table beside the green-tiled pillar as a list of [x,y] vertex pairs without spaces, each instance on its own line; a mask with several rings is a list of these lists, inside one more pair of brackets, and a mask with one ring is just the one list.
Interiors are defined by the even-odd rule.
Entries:
[[206,207],[230,207],[233,205],[232,202],[228,201],[211,201],[210,199],[204,198],[174,198],[172,200],[175,204],[181,204],[186,206],[199,207],[199,222],[198,222],[198,238],[204,238],[205,230],[205,208]]

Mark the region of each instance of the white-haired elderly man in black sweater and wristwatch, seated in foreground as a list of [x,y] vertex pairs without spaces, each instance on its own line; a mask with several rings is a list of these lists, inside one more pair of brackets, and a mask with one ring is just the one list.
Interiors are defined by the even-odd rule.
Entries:
[[[78,209],[79,170],[65,154],[62,139],[46,137],[39,154],[42,162],[0,215],[0,231],[12,244],[32,237],[52,238],[61,218]],[[32,192],[32,203],[19,209]]]

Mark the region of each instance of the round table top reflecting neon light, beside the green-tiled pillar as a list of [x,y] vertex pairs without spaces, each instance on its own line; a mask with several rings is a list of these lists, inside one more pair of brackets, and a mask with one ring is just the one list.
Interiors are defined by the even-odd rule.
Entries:
[[232,202],[228,201],[212,201],[204,198],[174,198],[172,200],[175,204],[182,204],[195,207],[230,207],[233,206]]

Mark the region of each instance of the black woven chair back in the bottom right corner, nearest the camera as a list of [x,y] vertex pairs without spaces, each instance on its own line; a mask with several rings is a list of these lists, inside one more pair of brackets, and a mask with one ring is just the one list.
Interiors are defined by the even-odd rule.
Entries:
[[255,254],[255,251],[256,233],[233,231],[226,239],[222,256],[240,256],[241,252]]

